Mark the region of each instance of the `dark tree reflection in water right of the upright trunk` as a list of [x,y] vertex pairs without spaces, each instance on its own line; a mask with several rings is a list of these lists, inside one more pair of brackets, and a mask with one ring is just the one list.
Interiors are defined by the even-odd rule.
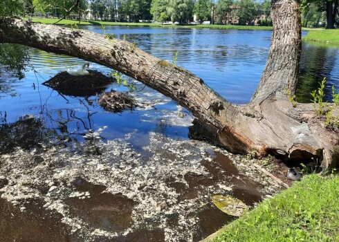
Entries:
[[337,48],[323,45],[304,44],[300,59],[300,77],[297,86],[297,101],[310,102],[311,92],[318,89],[319,82],[327,78],[325,100],[331,101],[331,71],[335,68],[338,56]]

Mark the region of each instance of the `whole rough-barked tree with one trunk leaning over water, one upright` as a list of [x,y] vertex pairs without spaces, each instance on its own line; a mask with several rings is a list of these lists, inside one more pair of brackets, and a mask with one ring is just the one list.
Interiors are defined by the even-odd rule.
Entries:
[[318,160],[336,167],[338,133],[324,127],[311,104],[293,107],[300,58],[299,3],[273,1],[270,57],[250,104],[235,105],[208,88],[199,77],[136,48],[86,30],[0,18],[0,42],[32,46],[108,66],[171,97],[205,124],[232,152],[273,154],[284,159]]

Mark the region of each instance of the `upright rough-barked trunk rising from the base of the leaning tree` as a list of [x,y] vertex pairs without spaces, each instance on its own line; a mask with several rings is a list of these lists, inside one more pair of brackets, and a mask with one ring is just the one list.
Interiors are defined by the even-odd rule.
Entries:
[[301,52],[299,3],[295,0],[272,1],[273,35],[266,67],[251,102],[268,97],[285,98],[295,93]]

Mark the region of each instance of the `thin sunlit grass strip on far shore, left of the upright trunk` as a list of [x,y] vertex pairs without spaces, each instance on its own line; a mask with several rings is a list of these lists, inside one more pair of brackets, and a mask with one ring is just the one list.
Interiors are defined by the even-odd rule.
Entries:
[[[42,24],[54,24],[57,19],[33,18],[33,22]],[[238,26],[238,25],[189,25],[189,24],[151,24],[151,23],[122,23],[107,21],[80,21],[63,19],[58,25],[98,25],[98,26],[140,26],[140,27],[156,27],[156,28],[217,28],[217,29],[237,29],[237,30],[272,30],[268,26]]]

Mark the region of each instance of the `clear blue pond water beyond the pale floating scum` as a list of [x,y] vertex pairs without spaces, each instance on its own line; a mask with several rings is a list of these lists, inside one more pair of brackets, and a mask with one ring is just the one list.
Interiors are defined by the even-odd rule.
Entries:
[[[100,26],[83,28],[104,32]],[[255,91],[264,70],[271,38],[271,31],[248,30],[106,26],[105,32],[114,34],[117,39],[135,42],[138,48],[169,62],[172,62],[174,53],[178,51],[176,65],[198,75],[226,100],[236,104],[248,103]],[[327,91],[332,85],[338,89],[339,73],[338,68],[335,68],[338,62],[338,48],[304,44],[300,64],[301,89],[304,92],[300,96],[309,100],[308,93],[316,88],[317,82],[310,82],[310,78],[320,81],[322,77],[327,77]],[[147,143],[149,131],[187,138],[187,126],[167,122],[167,118],[164,118],[165,114],[176,111],[177,106],[162,95],[161,99],[166,102],[156,105],[156,109],[112,114],[98,105],[96,96],[84,98],[59,95],[42,85],[42,82],[60,71],[81,66],[82,63],[82,59],[31,50],[26,77],[23,80],[7,77],[11,91],[0,93],[0,124],[15,122],[22,115],[31,114],[44,120],[46,128],[79,140],[86,131],[101,127],[107,127],[102,133],[104,139],[120,138],[134,132],[136,146]],[[90,68],[105,74],[111,71],[95,63],[91,63]],[[111,89],[125,90],[117,84],[109,86],[107,91]],[[152,97],[158,93],[146,87],[134,95]],[[190,116],[188,111],[183,112]],[[62,126],[67,127],[66,131]]]

